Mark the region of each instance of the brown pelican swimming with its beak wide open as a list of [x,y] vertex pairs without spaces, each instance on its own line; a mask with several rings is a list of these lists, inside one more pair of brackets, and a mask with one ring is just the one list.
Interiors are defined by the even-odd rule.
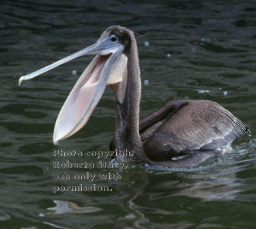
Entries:
[[82,55],[96,55],[63,104],[53,134],[53,142],[68,138],[87,123],[106,85],[117,100],[115,135],[111,151],[134,151],[134,161],[169,167],[191,167],[225,150],[250,131],[231,112],[209,100],[169,102],[139,121],[141,78],[137,42],[130,29],[112,26],[98,41],[79,52],[22,76],[29,80]]

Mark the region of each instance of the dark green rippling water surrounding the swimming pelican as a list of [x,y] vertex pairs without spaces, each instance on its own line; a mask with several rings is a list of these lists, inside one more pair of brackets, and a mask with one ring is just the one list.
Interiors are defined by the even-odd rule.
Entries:
[[[256,228],[255,16],[255,1],[2,0],[0,228]],[[252,136],[194,169],[53,169],[54,160],[67,159],[53,157],[60,147],[109,150],[115,97],[106,89],[89,123],[56,147],[55,119],[91,59],[21,87],[18,78],[94,43],[110,25],[138,33],[141,78],[149,82],[142,85],[141,116],[169,100],[214,100],[242,119]],[[85,172],[119,172],[122,179],[94,182],[112,192],[53,194],[53,185],[91,185],[54,181],[53,174]]]

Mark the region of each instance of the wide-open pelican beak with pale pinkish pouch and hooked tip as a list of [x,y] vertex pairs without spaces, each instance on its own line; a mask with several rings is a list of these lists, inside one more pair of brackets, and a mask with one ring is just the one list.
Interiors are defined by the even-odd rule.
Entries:
[[122,44],[118,41],[113,42],[110,37],[107,37],[41,70],[20,77],[19,84],[23,80],[35,78],[72,59],[83,55],[96,55],[70,91],[59,112],[53,133],[55,144],[59,140],[72,136],[87,123],[106,85],[122,82],[127,65],[127,57],[123,51]]

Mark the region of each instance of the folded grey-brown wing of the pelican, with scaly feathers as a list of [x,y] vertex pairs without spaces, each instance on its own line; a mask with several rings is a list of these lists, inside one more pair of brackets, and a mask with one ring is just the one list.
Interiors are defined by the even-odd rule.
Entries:
[[156,128],[151,129],[151,135],[144,141],[144,150],[151,159],[222,149],[235,138],[250,134],[242,121],[210,100],[171,103],[174,108],[161,119],[160,126],[154,123]]

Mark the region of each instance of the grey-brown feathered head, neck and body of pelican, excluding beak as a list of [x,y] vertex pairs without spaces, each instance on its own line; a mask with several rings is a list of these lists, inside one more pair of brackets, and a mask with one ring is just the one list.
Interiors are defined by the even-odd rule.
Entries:
[[235,138],[250,134],[242,121],[209,100],[170,102],[139,123],[141,80],[134,33],[124,27],[113,26],[103,34],[117,35],[128,57],[127,83],[122,88],[126,92],[124,101],[117,102],[111,150],[135,151],[135,157],[126,158],[130,161],[190,167],[221,153]]

